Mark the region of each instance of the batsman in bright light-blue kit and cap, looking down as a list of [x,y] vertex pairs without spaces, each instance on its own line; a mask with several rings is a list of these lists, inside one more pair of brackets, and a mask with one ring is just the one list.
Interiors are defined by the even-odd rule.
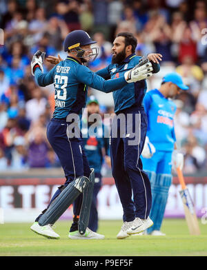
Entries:
[[[184,156],[177,150],[173,117],[176,105],[172,101],[181,90],[188,90],[176,72],[166,74],[159,90],[150,90],[144,97],[148,118],[147,139],[141,160],[148,173],[152,189],[150,218],[154,225],[147,230],[153,236],[165,236],[161,222],[172,183],[172,167],[184,165]],[[173,153],[173,154],[172,154]]]

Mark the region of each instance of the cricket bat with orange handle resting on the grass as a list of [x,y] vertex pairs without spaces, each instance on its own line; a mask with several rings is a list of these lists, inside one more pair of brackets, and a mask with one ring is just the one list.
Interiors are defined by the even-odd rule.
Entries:
[[179,183],[181,184],[181,191],[179,191],[179,194],[181,195],[181,200],[184,204],[184,211],[189,232],[192,235],[199,235],[201,232],[199,229],[199,223],[195,213],[193,200],[190,197],[190,193],[186,187],[184,176],[180,168],[177,168],[177,176],[179,178]]

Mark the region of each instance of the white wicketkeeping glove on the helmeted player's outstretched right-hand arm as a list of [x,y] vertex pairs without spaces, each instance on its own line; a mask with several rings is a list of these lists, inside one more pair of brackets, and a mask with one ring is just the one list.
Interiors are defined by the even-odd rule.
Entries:
[[124,73],[124,77],[128,83],[135,83],[152,76],[152,71],[152,63],[148,58],[142,57],[138,65]]

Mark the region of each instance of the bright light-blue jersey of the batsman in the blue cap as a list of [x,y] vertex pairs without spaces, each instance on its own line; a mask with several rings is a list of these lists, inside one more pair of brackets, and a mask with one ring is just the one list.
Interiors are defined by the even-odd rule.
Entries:
[[148,116],[147,136],[150,143],[155,145],[157,150],[173,151],[176,141],[173,121],[175,103],[155,89],[146,93],[144,109]]

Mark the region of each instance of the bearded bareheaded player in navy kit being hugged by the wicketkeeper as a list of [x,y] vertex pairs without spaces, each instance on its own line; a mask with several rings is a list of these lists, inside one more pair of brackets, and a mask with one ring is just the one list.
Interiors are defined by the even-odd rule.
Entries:
[[[141,56],[135,54],[136,47],[137,39],[132,34],[117,34],[112,47],[112,63],[96,74],[103,79],[124,78],[126,71],[141,64]],[[161,57],[161,54],[152,53],[145,59],[152,64],[153,73],[159,72]],[[50,63],[58,63],[61,59],[50,56],[48,60]],[[115,132],[115,136],[112,134],[110,138],[112,176],[115,178],[124,211],[124,224],[117,234],[118,239],[140,233],[153,224],[149,218],[152,203],[150,180],[142,169],[140,158],[147,130],[147,116],[143,105],[146,89],[146,80],[143,79],[113,92],[115,114],[117,118],[124,119],[120,124],[114,118],[111,133]]]

